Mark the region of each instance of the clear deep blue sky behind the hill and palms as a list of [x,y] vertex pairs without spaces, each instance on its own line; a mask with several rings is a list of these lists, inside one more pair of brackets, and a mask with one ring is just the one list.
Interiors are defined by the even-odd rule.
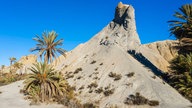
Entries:
[[[191,0],[121,0],[136,12],[142,43],[171,39],[167,21]],[[119,0],[0,0],[0,65],[9,57],[31,54],[36,34],[55,30],[71,50],[102,30],[114,16]]]

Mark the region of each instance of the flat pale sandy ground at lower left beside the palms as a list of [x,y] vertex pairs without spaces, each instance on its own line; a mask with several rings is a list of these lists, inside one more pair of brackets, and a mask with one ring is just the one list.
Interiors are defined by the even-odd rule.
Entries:
[[64,108],[62,105],[32,105],[24,99],[24,95],[19,93],[23,87],[23,81],[17,81],[12,84],[0,87],[0,107],[1,108]]

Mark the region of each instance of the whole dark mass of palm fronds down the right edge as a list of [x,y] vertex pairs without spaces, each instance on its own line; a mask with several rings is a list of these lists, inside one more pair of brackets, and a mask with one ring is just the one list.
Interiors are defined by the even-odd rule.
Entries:
[[175,12],[177,20],[171,20],[170,33],[180,42],[179,55],[171,61],[166,80],[192,102],[192,4],[186,4]]

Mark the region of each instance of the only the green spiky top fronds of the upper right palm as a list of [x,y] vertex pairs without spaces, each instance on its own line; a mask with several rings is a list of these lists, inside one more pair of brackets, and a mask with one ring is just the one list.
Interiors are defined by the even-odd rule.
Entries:
[[174,14],[178,20],[168,21],[171,26],[170,33],[177,39],[192,38],[192,4],[183,5],[179,10],[180,12]]

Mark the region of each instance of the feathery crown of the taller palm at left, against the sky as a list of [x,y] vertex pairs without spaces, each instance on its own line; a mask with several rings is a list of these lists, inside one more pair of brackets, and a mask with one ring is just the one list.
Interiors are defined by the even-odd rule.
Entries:
[[37,42],[36,47],[32,48],[30,51],[38,51],[38,55],[42,59],[44,56],[44,61],[46,63],[53,62],[53,59],[56,58],[57,53],[62,55],[65,54],[65,50],[62,48],[57,48],[57,46],[63,45],[63,39],[56,40],[58,34],[55,31],[43,32],[42,37],[36,36],[33,38]]

